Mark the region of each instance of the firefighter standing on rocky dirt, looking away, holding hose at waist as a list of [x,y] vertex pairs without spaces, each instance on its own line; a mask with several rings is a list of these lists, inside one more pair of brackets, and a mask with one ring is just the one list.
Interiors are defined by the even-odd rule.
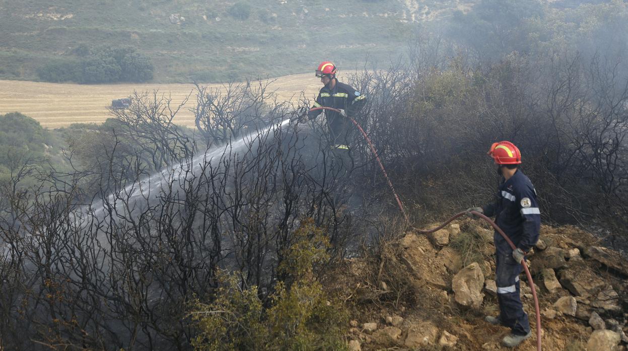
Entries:
[[516,246],[513,250],[501,234],[495,231],[495,282],[497,283],[497,301],[499,316],[487,316],[485,320],[494,325],[504,325],[512,332],[502,342],[507,347],[515,347],[531,336],[528,315],[523,311],[519,290],[519,273],[523,266],[521,260],[539,239],[541,212],[536,202],[536,190],[523,172],[521,152],[511,142],[494,143],[488,153],[497,165],[501,175],[496,201],[483,208],[472,207],[468,216],[477,219],[470,211],[495,216],[495,223]]

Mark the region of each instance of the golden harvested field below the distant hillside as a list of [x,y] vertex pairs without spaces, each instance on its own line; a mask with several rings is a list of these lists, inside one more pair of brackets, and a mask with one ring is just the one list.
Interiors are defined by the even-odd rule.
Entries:
[[[274,90],[279,100],[296,101],[301,92],[306,98],[315,98],[321,83],[313,73],[287,75],[271,79],[267,91]],[[208,84],[220,88],[220,84]],[[174,122],[179,125],[194,125],[196,98],[192,84],[111,84],[80,85],[70,83],[38,83],[34,81],[0,80],[0,115],[21,112],[35,118],[45,128],[67,127],[72,123],[102,123],[109,118],[107,107],[111,100],[128,97],[134,91],[153,92],[170,96],[178,105],[192,93],[187,105],[176,115]]]

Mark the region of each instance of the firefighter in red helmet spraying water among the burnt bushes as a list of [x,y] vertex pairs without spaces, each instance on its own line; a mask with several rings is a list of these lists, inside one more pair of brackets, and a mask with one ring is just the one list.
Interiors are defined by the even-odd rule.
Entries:
[[[353,126],[347,116],[354,115],[366,102],[365,95],[358,92],[351,86],[340,83],[336,78],[337,68],[330,61],[324,61],[316,70],[316,76],[323,83],[318,93],[315,107],[333,107],[340,110],[340,113],[325,110],[325,119],[329,130],[330,144],[335,150],[350,151],[350,136],[353,133]],[[316,118],[322,110],[308,112],[308,119]]]

